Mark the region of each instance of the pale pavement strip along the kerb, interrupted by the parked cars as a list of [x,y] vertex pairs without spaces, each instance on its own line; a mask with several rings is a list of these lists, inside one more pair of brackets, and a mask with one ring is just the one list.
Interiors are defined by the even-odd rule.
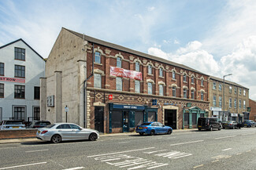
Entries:
[[[185,128],[185,129],[174,129],[173,132],[189,132],[195,131],[197,128]],[[100,137],[106,136],[131,136],[137,134],[136,132],[123,132],[123,133],[100,133]],[[24,142],[36,142],[39,139],[34,138],[20,138],[20,139],[0,139],[0,144],[4,143],[24,143]]]

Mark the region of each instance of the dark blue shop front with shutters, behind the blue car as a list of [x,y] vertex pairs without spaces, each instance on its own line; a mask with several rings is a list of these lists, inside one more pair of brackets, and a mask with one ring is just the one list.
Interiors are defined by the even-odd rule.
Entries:
[[158,108],[109,103],[109,132],[133,132],[145,121],[158,121]]

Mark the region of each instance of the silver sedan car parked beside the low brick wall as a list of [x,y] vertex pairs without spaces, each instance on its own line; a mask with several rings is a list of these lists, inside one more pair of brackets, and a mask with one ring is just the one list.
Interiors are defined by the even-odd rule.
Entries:
[[98,131],[82,128],[72,123],[55,123],[44,128],[39,128],[36,138],[53,143],[60,143],[64,140],[89,139],[95,141],[99,138]]

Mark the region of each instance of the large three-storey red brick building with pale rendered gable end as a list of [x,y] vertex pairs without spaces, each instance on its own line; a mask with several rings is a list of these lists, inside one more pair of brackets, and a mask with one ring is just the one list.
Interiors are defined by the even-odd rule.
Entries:
[[69,121],[99,132],[130,132],[143,121],[195,128],[208,116],[208,81],[185,65],[62,28],[41,81],[42,116],[64,121],[69,107]]

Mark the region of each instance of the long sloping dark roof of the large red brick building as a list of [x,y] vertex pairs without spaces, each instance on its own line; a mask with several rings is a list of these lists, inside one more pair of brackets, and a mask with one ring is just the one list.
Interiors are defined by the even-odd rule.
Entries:
[[[123,51],[123,52],[128,52],[128,53],[134,54],[136,56],[143,56],[144,58],[147,58],[147,59],[150,59],[150,60],[160,61],[162,63],[167,63],[169,65],[173,65],[175,67],[180,67],[180,68],[186,69],[188,71],[194,71],[194,72],[199,73],[199,74],[204,74],[204,73],[202,73],[200,71],[196,71],[195,69],[193,69],[191,67],[184,66],[183,64],[180,64],[180,63],[174,63],[174,62],[172,62],[170,60],[165,60],[165,59],[162,59],[162,58],[160,58],[158,56],[152,56],[152,55],[149,55],[149,54],[146,54],[146,53],[143,53],[143,52],[135,51],[133,49],[128,49],[128,48],[123,47],[121,45],[116,45],[116,44],[113,44],[113,43],[110,43],[110,42],[104,42],[104,41],[102,41],[100,39],[92,38],[92,37],[87,36],[85,34],[80,34],[78,32],[71,31],[69,29],[66,29],[65,27],[62,27],[62,28],[65,29],[66,31],[71,32],[72,34],[76,34],[76,36],[78,36],[80,38],[84,38],[88,42],[93,42],[93,43],[98,44],[98,45],[104,45],[106,47],[109,47],[109,48],[112,48],[112,49],[117,49],[117,50],[120,50],[120,51]],[[207,75],[207,74],[204,74],[204,75]]]

